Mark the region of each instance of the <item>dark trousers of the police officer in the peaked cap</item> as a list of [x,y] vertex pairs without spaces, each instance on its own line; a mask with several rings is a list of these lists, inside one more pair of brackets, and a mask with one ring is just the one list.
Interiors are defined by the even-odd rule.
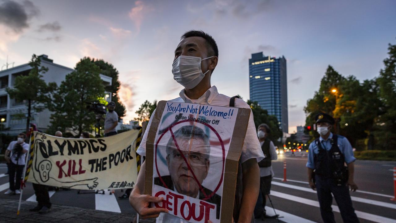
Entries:
[[318,192],[318,200],[320,204],[320,214],[324,223],[335,223],[331,204],[333,203],[333,194],[338,208],[341,212],[341,217],[345,223],[358,223],[359,219],[355,214],[350,200],[348,186],[337,186],[333,179],[321,179],[315,177],[316,190]]

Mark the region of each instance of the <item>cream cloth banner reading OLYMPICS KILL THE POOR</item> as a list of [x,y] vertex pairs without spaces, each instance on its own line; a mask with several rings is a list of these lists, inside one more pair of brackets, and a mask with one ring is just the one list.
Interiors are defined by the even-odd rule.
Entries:
[[139,130],[104,138],[62,138],[34,132],[28,181],[80,190],[132,188]]

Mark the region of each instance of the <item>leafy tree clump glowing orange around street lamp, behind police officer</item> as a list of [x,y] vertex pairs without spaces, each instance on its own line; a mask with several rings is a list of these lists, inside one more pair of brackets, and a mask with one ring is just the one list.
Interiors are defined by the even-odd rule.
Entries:
[[[329,66],[319,90],[304,108],[307,114],[306,125],[314,124],[318,113],[328,113],[336,119],[333,132],[346,136],[357,148],[362,149],[366,145],[373,148],[373,125],[379,114],[377,108],[381,107],[377,91],[375,80],[360,83],[356,77],[343,77]],[[319,137],[316,131],[310,131],[309,134],[312,138]],[[368,142],[362,142],[367,136]]]

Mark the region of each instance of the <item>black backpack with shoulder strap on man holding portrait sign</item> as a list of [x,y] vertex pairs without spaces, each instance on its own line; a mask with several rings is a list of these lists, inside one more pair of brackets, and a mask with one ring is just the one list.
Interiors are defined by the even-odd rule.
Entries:
[[[239,98],[238,96],[234,96],[230,98],[230,107],[235,107],[235,98]],[[238,173],[236,176],[236,187],[235,187],[235,198],[234,198],[234,210],[232,212],[232,217],[234,218],[234,222],[238,222],[239,219],[239,211],[242,205],[242,195],[243,195],[243,176],[242,176],[242,163],[239,160],[238,162]],[[251,223],[254,223],[254,213],[251,217]]]

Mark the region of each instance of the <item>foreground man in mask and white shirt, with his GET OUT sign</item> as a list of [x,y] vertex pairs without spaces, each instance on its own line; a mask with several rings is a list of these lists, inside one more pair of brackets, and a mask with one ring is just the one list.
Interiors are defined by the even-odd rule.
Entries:
[[[232,222],[234,215],[237,222],[252,220],[257,161],[264,155],[249,106],[236,99],[235,108],[228,107],[230,97],[211,87],[217,61],[211,36],[202,31],[183,35],[172,73],[185,88],[179,98],[158,103],[137,150],[146,161],[129,201],[143,219],[217,223]],[[238,161],[243,196],[233,211]]]

